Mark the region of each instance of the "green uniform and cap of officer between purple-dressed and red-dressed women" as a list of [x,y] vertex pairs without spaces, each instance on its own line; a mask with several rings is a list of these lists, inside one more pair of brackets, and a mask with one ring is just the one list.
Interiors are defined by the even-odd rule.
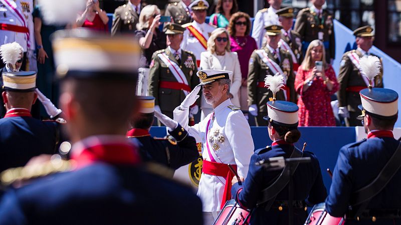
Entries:
[[[274,29],[272,29],[272,27]],[[267,33],[268,35],[281,35],[281,26],[279,25],[271,25],[267,26]],[[256,124],[258,126],[267,126],[267,121],[263,119],[264,116],[267,114],[267,105],[266,103],[269,101],[270,97],[273,97],[273,93],[267,88],[264,87],[265,77],[266,75],[275,75],[272,68],[263,61],[263,58],[260,57],[258,51],[264,50],[268,57],[275,61],[283,70],[284,76],[287,77],[286,86],[287,93],[290,95],[289,99],[287,100],[295,102],[295,89],[294,89],[294,81],[295,76],[293,72],[293,65],[292,65],[292,58],[291,54],[288,50],[280,49],[279,58],[275,58],[270,52],[268,46],[257,49],[252,52],[251,58],[249,60],[249,72],[248,72],[248,104],[256,104],[258,107],[258,115],[256,117]],[[276,94],[277,100],[285,100],[284,91],[280,90]]]

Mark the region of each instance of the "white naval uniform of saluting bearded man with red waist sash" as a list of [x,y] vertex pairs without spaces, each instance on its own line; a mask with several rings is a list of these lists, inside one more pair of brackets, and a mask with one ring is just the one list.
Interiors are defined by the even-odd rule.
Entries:
[[[202,142],[202,156],[204,160],[210,160],[206,140],[214,131],[219,129],[219,134],[224,136],[224,143],[220,143],[220,149],[216,152],[220,163],[230,163],[237,165],[237,172],[240,176],[246,177],[248,173],[249,162],[254,153],[254,142],[251,136],[251,128],[241,110],[233,110],[231,100],[227,99],[219,104],[215,109],[215,118],[209,125],[210,131],[206,136],[206,127],[210,114],[194,126],[188,127],[189,110],[180,110],[179,106],[173,111],[174,120],[188,130],[189,135],[195,137],[196,142]],[[213,148],[211,148],[211,151]],[[220,211],[223,198],[225,177],[202,173],[199,180],[197,195],[203,203],[203,211]]]

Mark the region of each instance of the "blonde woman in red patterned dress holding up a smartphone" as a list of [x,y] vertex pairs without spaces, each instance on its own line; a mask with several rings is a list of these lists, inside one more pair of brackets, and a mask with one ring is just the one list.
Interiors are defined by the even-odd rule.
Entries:
[[295,76],[300,126],[335,126],[330,96],[338,90],[338,82],[324,58],[323,42],[313,40]]

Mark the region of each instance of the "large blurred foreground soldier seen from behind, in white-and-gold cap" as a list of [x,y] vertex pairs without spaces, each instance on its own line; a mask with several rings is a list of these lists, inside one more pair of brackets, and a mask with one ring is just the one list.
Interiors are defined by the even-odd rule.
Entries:
[[[163,224],[166,218],[171,224],[202,224],[201,202],[192,190],[147,172],[125,137],[139,105],[138,44],[88,30],[54,35],[57,75],[63,79],[60,105],[76,168],[7,192],[0,224]],[[60,216],[62,211],[69,215]]]

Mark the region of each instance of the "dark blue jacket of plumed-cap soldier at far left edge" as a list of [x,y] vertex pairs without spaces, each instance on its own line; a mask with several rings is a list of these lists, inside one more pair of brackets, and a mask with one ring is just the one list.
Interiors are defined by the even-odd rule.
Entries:
[[0,171],[25,165],[40,154],[53,154],[58,142],[55,121],[30,116],[0,119]]

